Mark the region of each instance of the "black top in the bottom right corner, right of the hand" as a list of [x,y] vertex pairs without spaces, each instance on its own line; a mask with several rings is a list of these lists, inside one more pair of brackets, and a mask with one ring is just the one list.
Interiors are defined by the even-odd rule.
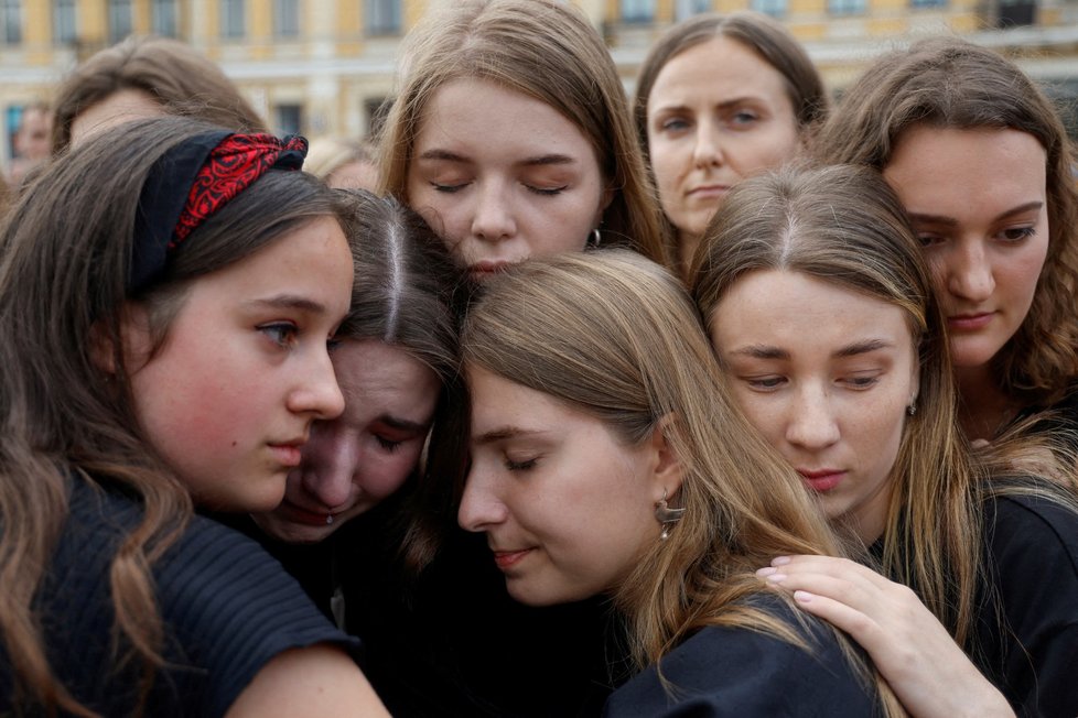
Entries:
[[1078,716],[1078,515],[991,500],[985,550],[974,661],[1020,716]]

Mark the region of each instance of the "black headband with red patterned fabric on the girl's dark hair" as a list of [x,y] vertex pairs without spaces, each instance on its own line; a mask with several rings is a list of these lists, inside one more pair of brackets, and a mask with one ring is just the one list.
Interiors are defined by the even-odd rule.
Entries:
[[266,172],[299,170],[305,156],[301,137],[279,140],[225,131],[206,132],[169,150],[139,197],[128,293],[157,280],[171,250]]

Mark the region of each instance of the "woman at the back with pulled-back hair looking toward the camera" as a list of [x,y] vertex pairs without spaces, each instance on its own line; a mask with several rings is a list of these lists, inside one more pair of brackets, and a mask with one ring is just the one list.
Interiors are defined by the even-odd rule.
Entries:
[[767,15],[698,15],[658,40],[634,112],[682,269],[730,187],[797,154],[827,110],[808,53]]

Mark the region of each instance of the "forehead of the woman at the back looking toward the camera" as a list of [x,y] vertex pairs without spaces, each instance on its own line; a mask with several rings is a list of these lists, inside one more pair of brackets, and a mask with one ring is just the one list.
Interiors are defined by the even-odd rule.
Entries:
[[671,57],[655,78],[648,106],[707,98],[756,97],[789,105],[786,78],[741,41],[716,35]]

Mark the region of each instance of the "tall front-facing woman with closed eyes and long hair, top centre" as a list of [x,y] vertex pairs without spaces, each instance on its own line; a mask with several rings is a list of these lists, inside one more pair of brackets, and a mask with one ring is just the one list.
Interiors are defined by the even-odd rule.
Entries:
[[665,259],[625,90],[579,9],[452,3],[406,42],[380,188],[419,211],[473,276],[585,246]]

